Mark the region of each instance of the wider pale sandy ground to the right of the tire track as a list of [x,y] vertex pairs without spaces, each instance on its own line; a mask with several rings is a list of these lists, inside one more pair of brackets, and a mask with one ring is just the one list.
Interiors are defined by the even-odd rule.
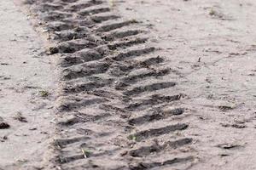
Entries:
[[255,169],[256,3],[151,0],[118,7],[153,25],[151,37],[180,76],[177,90],[193,111],[188,134],[201,158],[191,169]]

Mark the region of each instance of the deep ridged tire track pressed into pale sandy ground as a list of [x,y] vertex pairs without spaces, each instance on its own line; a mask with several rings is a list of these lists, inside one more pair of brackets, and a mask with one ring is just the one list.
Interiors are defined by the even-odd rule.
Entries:
[[[60,55],[63,86],[57,108],[61,134],[54,144],[56,165],[157,169],[193,164],[195,156],[178,151],[193,139],[175,134],[189,124],[161,123],[183,115],[183,108],[161,108],[183,99],[183,94],[161,94],[177,82],[164,80],[172,69],[160,65],[165,59],[157,56],[160,49],[150,45],[140,22],[123,20],[101,0],[26,4],[44,21],[56,44],[48,54]],[[173,150],[178,154],[174,156]]]

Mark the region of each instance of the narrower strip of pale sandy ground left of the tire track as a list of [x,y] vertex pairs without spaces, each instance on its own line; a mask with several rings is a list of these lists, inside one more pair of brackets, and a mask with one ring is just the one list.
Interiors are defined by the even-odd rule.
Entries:
[[12,1],[1,1],[0,23],[0,123],[9,124],[0,129],[0,169],[40,168],[54,135],[57,69]]

